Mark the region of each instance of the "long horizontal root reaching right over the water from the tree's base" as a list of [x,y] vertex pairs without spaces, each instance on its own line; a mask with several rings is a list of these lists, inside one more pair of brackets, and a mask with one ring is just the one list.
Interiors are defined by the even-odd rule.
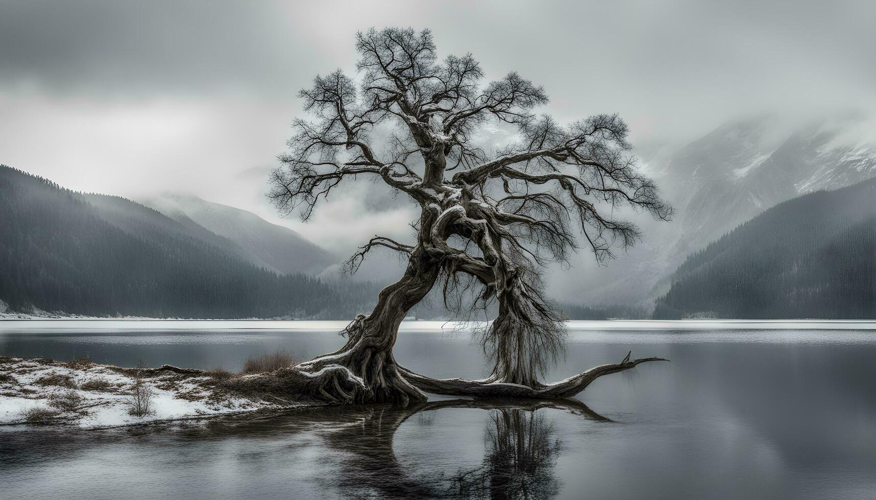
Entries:
[[430,378],[399,366],[399,371],[411,384],[420,391],[441,394],[443,396],[471,396],[476,398],[571,398],[583,391],[598,377],[630,370],[640,363],[649,361],[668,361],[661,357],[644,357],[630,359],[632,351],[620,363],[602,364],[554,384],[537,384],[529,387],[520,384],[508,384],[495,377],[484,380],[468,380],[465,378]]

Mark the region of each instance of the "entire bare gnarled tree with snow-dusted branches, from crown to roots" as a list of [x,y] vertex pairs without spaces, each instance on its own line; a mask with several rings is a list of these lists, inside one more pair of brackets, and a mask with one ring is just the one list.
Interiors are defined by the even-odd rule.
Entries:
[[[599,262],[613,257],[616,245],[632,245],[639,229],[612,217],[618,206],[665,221],[672,215],[627,154],[624,121],[597,115],[562,126],[537,116],[533,110],[548,102],[543,88],[516,73],[484,85],[471,54],[438,60],[425,30],[359,32],[356,48],[360,81],[338,70],[301,90],[311,119],[293,123],[290,151],[272,172],[269,197],[282,213],[299,210],[307,221],[343,180],[376,178],[419,204],[416,241],[375,236],[350,258],[355,271],[369,250],[385,247],[405,254],[407,268],[380,292],[371,314],[345,329],[343,349],[286,376],[335,401],[406,404],[424,400],[420,390],[555,398],[660,359],[627,356],[559,384],[539,382],[562,356],[564,334],[538,268],[566,262],[578,239]],[[499,151],[478,147],[474,137],[490,123],[516,127],[517,140]],[[376,127],[392,130],[380,144]],[[436,380],[394,360],[401,320],[436,283],[445,302],[472,283],[479,287],[477,304],[498,301],[498,317],[480,334],[493,363],[488,379]]]

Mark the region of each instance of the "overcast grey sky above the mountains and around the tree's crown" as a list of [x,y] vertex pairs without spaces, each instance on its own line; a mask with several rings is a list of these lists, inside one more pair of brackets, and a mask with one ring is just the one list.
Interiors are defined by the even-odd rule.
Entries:
[[[620,112],[639,144],[734,116],[870,108],[876,2],[42,2],[0,0],[0,163],[76,190],[191,193],[277,222],[265,175],[315,74],[355,72],[371,26],[434,32],[489,78],[545,86],[561,121]],[[404,227],[338,196],[303,226],[332,246]],[[343,194],[343,193],[339,193]],[[390,231],[392,232],[392,231]]]

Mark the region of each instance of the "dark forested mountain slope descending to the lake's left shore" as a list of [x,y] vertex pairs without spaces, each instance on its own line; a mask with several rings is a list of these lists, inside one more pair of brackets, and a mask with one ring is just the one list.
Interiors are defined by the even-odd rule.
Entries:
[[378,292],[263,269],[194,222],[5,165],[0,222],[0,300],[16,311],[340,320],[370,309]]

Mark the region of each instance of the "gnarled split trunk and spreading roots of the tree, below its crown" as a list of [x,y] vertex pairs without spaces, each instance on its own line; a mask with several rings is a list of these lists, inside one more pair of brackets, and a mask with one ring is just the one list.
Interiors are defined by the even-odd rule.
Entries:
[[[569,398],[597,377],[662,360],[631,360],[627,355],[620,363],[597,366],[556,384],[542,384],[539,376],[562,353],[565,330],[559,314],[543,299],[538,277],[515,257],[519,249],[507,248],[507,230],[495,211],[471,201],[466,189],[442,191],[440,204],[423,208],[417,246],[399,247],[409,254],[404,276],[380,292],[370,315],[360,314],[350,323],[342,349],[290,370],[287,375],[293,387],[342,403],[407,405],[425,400],[422,391],[482,398]],[[447,243],[451,235],[469,237],[484,257],[453,249]],[[426,377],[399,366],[392,356],[401,321],[432,289],[442,271],[476,276],[485,292],[498,299],[498,317],[481,339],[484,354],[493,363],[491,377],[485,380]]]

